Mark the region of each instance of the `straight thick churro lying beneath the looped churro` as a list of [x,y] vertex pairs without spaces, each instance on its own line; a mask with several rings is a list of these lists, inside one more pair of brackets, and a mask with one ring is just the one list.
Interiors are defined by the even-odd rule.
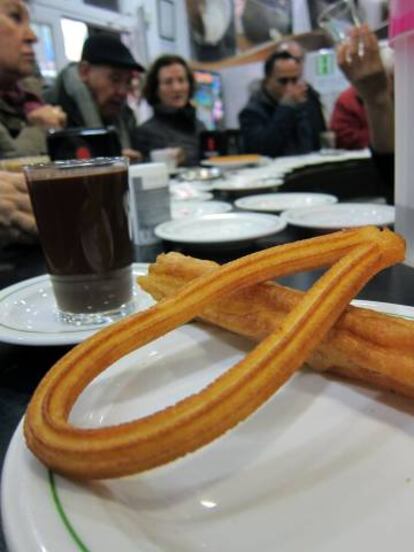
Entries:
[[[157,301],[219,269],[180,253],[160,255],[139,285]],[[209,304],[198,318],[253,341],[277,329],[303,296],[275,282],[254,284]],[[306,364],[414,398],[414,322],[349,306]]]

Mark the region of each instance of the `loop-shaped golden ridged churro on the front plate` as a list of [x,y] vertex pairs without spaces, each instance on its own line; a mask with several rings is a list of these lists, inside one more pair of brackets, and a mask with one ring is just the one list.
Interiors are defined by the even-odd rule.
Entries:
[[[29,404],[24,423],[29,448],[59,473],[96,479],[144,471],[209,443],[263,404],[302,365],[368,279],[403,257],[399,236],[367,227],[270,248],[201,276],[175,297],[102,330],[58,361]],[[82,429],[68,422],[77,397],[99,373],[191,320],[212,300],[332,263],[281,328],[199,393],[116,426]]]

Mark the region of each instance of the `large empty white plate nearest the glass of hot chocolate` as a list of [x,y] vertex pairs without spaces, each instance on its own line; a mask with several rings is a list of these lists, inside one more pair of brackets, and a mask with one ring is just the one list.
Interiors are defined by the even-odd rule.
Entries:
[[155,234],[179,243],[220,244],[270,236],[285,227],[276,215],[225,213],[163,222],[155,228]]

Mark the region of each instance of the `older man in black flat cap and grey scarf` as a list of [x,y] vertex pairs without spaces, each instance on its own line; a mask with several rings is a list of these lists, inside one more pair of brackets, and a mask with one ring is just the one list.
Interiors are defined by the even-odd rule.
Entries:
[[123,154],[139,159],[140,153],[131,149],[136,120],[127,96],[134,74],[143,71],[118,38],[94,35],[86,39],[81,61],[70,63],[59,73],[46,97],[66,112],[67,126],[115,126]]

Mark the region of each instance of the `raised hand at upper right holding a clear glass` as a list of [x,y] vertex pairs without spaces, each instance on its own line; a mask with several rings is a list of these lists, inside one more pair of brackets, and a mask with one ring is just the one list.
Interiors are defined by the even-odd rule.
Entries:
[[368,25],[351,29],[337,49],[339,67],[366,103],[389,94],[388,79],[375,34]]

